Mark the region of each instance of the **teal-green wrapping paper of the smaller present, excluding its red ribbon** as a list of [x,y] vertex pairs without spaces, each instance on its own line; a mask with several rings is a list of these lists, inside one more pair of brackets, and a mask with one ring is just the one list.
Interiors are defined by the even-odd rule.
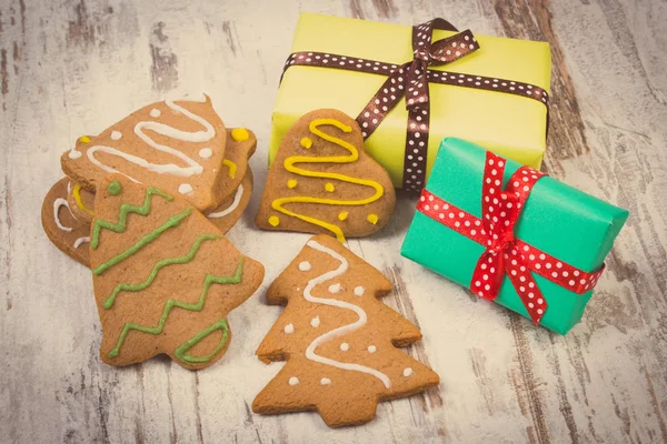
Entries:
[[[486,150],[460,140],[445,139],[426,190],[481,218],[481,189]],[[507,160],[502,189],[521,165]],[[595,272],[611,250],[628,211],[578,191],[549,176],[537,181],[521,209],[515,236],[558,260]],[[485,246],[428,215],[417,212],[401,254],[466,287],[470,286]],[[532,273],[548,307],[540,325],[566,334],[584,314],[593,290],[577,294]],[[526,317],[528,311],[509,278],[502,278],[497,303]]]

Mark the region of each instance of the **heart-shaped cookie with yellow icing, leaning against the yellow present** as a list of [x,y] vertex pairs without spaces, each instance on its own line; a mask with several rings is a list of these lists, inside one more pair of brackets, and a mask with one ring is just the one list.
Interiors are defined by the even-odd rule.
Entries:
[[381,229],[395,203],[391,180],[364,151],[357,122],[337,110],[317,110],[282,139],[255,223],[342,242]]

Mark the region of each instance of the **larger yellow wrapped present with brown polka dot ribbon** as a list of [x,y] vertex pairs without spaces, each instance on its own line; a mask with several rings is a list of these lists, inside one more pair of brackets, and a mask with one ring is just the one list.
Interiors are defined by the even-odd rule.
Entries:
[[440,141],[470,140],[539,169],[550,81],[544,42],[301,14],[272,114],[269,164],[307,112],[357,115],[366,151],[397,188],[420,190]]

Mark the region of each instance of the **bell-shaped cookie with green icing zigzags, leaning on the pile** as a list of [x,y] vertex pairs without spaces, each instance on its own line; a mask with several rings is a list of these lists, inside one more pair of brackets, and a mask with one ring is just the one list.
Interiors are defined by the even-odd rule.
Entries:
[[225,317],[260,285],[243,256],[177,193],[113,174],[99,183],[90,231],[101,359],[128,365],[167,354],[206,367],[229,346]]

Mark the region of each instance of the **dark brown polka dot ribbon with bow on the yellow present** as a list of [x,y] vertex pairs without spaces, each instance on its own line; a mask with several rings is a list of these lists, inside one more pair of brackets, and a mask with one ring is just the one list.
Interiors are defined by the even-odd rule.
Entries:
[[402,188],[411,191],[420,191],[426,183],[430,83],[505,92],[537,100],[547,107],[549,103],[547,91],[534,84],[428,69],[428,67],[450,63],[479,49],[470,30],[431,42],[434,29],[458,32],[455,27],[442,19],[434,19],[412,27],[414,59],[404,64],[301,51],[293,52],[288,57],[282,71],[285,75],[285,71],[289,67],[306,65],[386,75],[387,81],[361,110],[357,122],[361,127],[364,139],[368,139],[389,111],[405,97],[408,109],[408,127]]

